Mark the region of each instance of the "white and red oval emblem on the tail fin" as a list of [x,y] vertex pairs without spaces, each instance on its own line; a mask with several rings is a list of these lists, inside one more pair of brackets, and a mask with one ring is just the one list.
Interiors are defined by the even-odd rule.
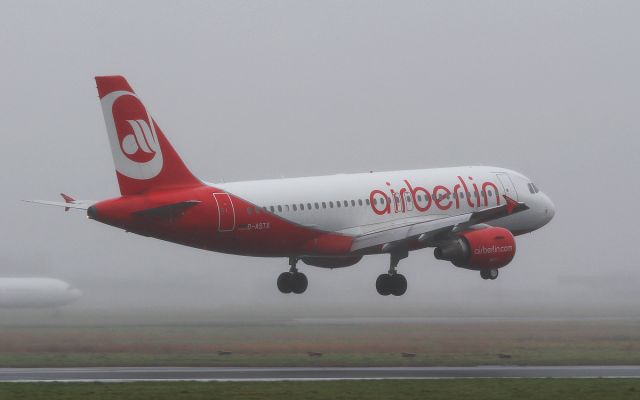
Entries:
[[135,93],[119,90],[101,100],[116,170],[151,179],[162,170],[162,151],[153,119]]

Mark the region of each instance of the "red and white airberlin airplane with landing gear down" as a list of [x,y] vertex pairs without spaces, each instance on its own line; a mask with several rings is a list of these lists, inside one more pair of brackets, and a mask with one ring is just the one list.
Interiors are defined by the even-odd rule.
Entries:
[[546,225],[549,197],[526,176],[472,166],[209,183],[195,177],[122,76],[95,78],[121,196],[64,202],[127,232],[221,253],[283,257],[282,293],[308,287],[298,263],[342,268],[388,254],[376,290],[401,296],[410,251],[478,271],[486,280],[515,256],[515,236]]

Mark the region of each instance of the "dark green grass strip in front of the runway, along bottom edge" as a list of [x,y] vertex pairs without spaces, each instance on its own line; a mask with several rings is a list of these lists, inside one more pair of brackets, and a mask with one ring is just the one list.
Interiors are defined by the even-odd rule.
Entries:
[[1,383],[3,400],[74,399],[638,399],[634,379],[323,382]]

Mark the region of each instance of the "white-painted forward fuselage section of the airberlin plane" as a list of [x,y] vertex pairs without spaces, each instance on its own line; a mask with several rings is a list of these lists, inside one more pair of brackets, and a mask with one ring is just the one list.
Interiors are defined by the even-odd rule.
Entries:
[[[542,192],[530,190],[530,184],[524,175],[504,168],[456,167],[245,181],[215,186],[256,207],[266,207],[267,211],[295,224],[354,235],[394,221],[437,219],[494,207],[498,202],[503,204],[502,196],[507,195],[524,202],[530,209],[495,220],[491,225],[522,234],[542,227],[555,212],[549,198]],[[391,199],[389,204],[383,201],[385,196]]]

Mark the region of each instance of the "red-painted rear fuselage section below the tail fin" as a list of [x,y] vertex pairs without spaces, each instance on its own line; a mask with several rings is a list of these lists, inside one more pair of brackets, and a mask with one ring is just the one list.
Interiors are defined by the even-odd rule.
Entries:
[[[174,217],[136,212],[184,201],[200,203]],[[95,206],[94,219],[130,232],[191,247],[250,256],[345,255],[352,238],[296,225],[274,214],[247,213],[252,204],[222,190],[200,186],[123,196]],[[234,218],[232,220],[231,218]]]

